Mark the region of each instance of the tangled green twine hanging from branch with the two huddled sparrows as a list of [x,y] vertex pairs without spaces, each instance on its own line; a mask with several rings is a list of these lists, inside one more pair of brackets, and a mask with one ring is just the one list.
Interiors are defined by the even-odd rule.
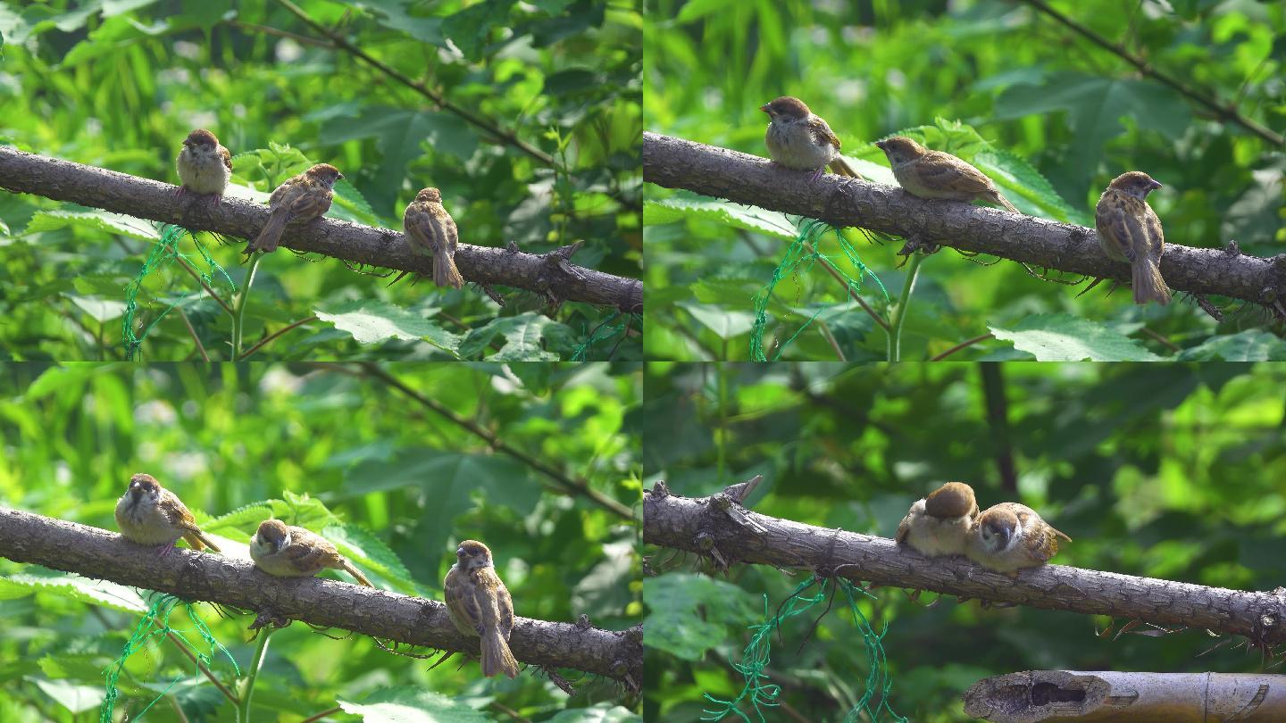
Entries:
[[[805,589],[810,588],[814,583],[820,581],[815,594],[805,597],[802,593]],[[809,609],[826,602],[826,585],[827,579],[824,578],[809,578],[800,583],[795,590],[787,598],[783,610],[779,610],[777,615],[769,618],[768,615],[768,596],[764,596],[764,621],[757,625],[751,625],[750,629],[755,633],[750,638],[750,643],[746,650],[742,651],[742,661],[739,664],[733,664],[733,668],[741,673],[746,684],[742,687],[741,693],[728,701],[719,700],[710,693],[705,693],[706,700],[719,704],[721,708],[716,710],[702,710],[705,715],[701,717],[702,720],[721,720],[728,715],[737,715],[746,723],[751,723],[750,717],[741,710],[741,704],[745,700],[750,700],[750,705],[755,709],[755,715],[763,723],[764,713],[760,706],[777,706],[777,697],[781,695],[781,686],[768,683],[768,675],[764,674],[764,669],[769,664],[769,654],[772,650],[773,632],[778,630],[782,621],[787,618],[793,618],[796,615],[802,615],[808,612]],[[880,715],[887,711],[892,720],[899,723],[907,723],[907,718],[898,715],[892,708],[889,705],[889,696],[892,691],[892,679],[887,673],[887,657],[885,657],[882,639],[885,633],[889,632],[889,625],[885,624],[883,630],[878,634],[871,629],[871,624],[867,621],[865,615],[858,609],[858,601],[854,597],[854,590],[859,589],[853,585],[851,581],[837,578],[836,579],[840,588],[844,590],[845,597],[849,599],[849,610],[853,612],[854,621],[858,623],[858,633],[867,650],[867,665],[871,668],[871,673],[867,675],[865,693],[862,700],[853,706],[853,710],[844,717],[844,723],[856,723],[859,720],[859,714],[865,714],[872,723],[878,723]],[[860,590],[862,594],[874,599],[874,596],[867,590]],[[880,691],[880,705],[874,709],[871,708],[871,699],[874,696],[876,691]]]

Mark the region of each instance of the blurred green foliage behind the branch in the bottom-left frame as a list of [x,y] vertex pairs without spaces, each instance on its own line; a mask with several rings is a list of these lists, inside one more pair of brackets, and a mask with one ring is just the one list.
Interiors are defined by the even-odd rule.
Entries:
[[[637,365],[383,369],[554,472],[638,509]],[[378,587],[441,599],[455,543],[473,538],[494,551],[521,616],[574,621],[584,614],[607,629],[642,618],[631,520],[568,495],[531,464],[361,368],[10,364],[0,374],[6,506],[116,530],[117,498],[131,473],[148,471],[183,498],[226,554],[248,557],[247,540],[271,513],[336,542]],[[31,594],[36,584],[53,589]],[[0,720],[86,719],[73,715],[75,701],[96,710],[102,673],[149,603],[121,585],[0,558]],[[247,642],[252,616],[197,610],[244,673],[255,648]],[[189,627],[177,612],[172,623]],[[446,702],[424,704],[427,710],[463,705],[482,719],[504,719],[498,710],[530,720],[559,713],[566,715],[558,720],[622,719],[607,714],[613,706],[624,711],[611,681],[579,678],[577,695],[568,697],[534,672],[485,681],[462,657],[428,672],[431,661],[397,657],[369,638],[328,634],[338,639],[302,624],[273,636],[253,719],[302,720],[392,693],[437,696]],[[225,657],[216,656],[212,669],[234,683]],[[148,720],[179,720],[172,704],[188,720],[233,720],[233,706],[193,673],[171,645],[148,646],[126,664],[117,717],[132,719],[183,675],[172,701],[153,706]],[[606,708],[585,710],[598,704]]]

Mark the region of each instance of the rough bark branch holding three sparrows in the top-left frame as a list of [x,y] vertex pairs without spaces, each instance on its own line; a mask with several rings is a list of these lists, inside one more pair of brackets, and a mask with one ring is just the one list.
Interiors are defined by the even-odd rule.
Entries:
[[[198,198],[180,201],[175,196],[176,187],[170,184],[9,147],[0,147],[0,188],[238,238],[255,238],[269,216],[267,206],[260,203],[224,197],[217,208],[211,208]],[[391,229],[320,219],[292,226],[282,246],[426,277],[432,274],[432,259],[412,252],[401,232]],[[534,255],[462,243],[455,265],[471,282],[526,288],[562,301],[616,306],[626,313],[643,309],[643,282],[575,266],[567,261],[566,250]]]

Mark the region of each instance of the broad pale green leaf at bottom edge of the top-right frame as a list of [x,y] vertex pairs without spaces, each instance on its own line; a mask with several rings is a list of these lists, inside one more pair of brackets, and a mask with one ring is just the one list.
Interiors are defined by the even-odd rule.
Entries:
[[1008,328],[990,325],[995,338],[1012,341],[1039,362],[1161,362],[1142,342],[1116,329],[1070,314],[1026,316]]

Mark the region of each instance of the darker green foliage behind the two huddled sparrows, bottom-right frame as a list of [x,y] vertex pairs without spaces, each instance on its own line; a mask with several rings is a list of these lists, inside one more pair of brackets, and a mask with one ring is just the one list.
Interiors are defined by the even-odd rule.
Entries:
[[[1067,533],[1075,542],[1056,563],[1269,590],[1286,579],[1283,389],[1278,364],[652,363],[644,485],[703,497],[764,475],[747,500],[756,512],[892,536],[912,502],[961,480],[983,507],[1019,500]],[[649,639],[664,628],[647,650],[644,719],[694,720],[702,693],[737,695],[747,625],[808,572],[737,565],[692,584],[709,571],[696,556],[644,554],[658,575],[644,583]],[[859,609],[874,630],[889,625],[891,705],[916,723],[970,720],[961,695],[992,674],[1262,664],[1244,639],[1202,630],[1114,639],[1128,620],[873,593]],[[822,607],[774,637],[769,682],[795,719],[840,720],[862,696],[865,651],[840,609],[842,598],[802,650]]]

